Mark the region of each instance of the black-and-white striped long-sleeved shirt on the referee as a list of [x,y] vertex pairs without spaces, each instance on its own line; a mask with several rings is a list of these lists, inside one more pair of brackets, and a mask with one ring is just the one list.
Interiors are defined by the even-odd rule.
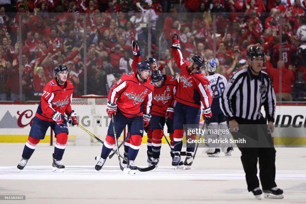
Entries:
[[225,87],[220,104],[229,120],[233,117],[258,120],[262,117],[260,109],[263,104],[268,121],[274,122],[276,98],[266,72],[254,76],[250,67],[238,71]]

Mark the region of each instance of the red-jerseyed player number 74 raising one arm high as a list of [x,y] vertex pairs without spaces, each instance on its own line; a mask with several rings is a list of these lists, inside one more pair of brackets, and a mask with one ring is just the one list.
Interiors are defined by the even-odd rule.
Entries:
[[[181,70],[180,80],[178,82],[177,91],[174,99],[177,104],[174,110],[174,158],[172,166],[178,167],[181,161],[181,149],[183,145],[183,124],[199,124],[201,101],[203,103],[203,118],[210,118],[211,113],[211,95],[209,93],[209,81],[200,69],[204,66],[204,58],[201,56],[193,56],[188,61],[182,57],[180,51],[180,42],[177,34],[172,36],[172,55],[178,68]],[[195,139],[196,134],[191,135],[191,139]],[[192,162],[187,160],[192,157],[195,145],[188,144],[186,149],[185,168],[190,169]]]

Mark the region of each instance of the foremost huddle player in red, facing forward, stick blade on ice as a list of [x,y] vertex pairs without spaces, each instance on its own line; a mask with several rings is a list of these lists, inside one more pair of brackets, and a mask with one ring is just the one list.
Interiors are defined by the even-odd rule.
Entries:
[[137,169],[134,161],[142,141],[144,127],[149,124],[151,119],[150,108],[154,86],[150,80],[147,80],[151,73],[149,63],[138,62],[136,71],[136,74],[123,75],[110,89],[106,112],[109,117],[114,113],[115,117],[114,121],[110,121],[101,157],[95,165],[97,171],[102,168],[115,144],[113,122],[118,136],[121,135],[126,125],[131,126],[127,167],[131,170]]

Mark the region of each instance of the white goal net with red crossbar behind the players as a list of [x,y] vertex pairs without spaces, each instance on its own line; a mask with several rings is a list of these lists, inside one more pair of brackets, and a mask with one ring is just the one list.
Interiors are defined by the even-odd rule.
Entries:
[[[71,102],[71,108],[77,114],[77,122],[102,140],[105,139],[110,123],[110,118],[106,114],[107,101],[106,96],[86,95],[75,96]],[[102,145],[102,143],[76,125],[68,124],[68,129],[67,145]],[[53,145],[55,142],[56,139],[53,136]]]

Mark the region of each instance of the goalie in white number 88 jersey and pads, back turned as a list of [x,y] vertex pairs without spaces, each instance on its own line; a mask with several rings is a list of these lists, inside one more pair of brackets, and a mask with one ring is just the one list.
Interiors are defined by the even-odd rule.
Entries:
[[[207,71],[206,77],[209,80],[210,85],[210,94],[213,95],[216,86],[217,88],[215,92],[215,100],[211,103],[211,111],[214,115],[206,121],[207,133],[205,134],[205,141],[207,148],[203,150],[203,154],[206,153],[208,157],[219,157],[221,147],[225,156],[230,156],[234,144],[230,143],[232,135],[227,127],[227,117],[222,112],[219,102],[219,98],[227,85],[227,80],[224,76],[215,73],[218,68],[215,60],[208,60],[205,63],[205,68]],[[218,84],[216,84],[218,77],[220,77],[220,80]]]

